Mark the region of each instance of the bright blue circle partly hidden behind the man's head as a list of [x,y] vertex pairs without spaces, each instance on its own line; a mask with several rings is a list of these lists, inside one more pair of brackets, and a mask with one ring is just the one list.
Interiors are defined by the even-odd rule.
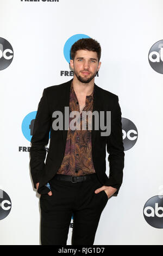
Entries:
[[78,41],[79,39],[82,39],[82,38],[90,38],[90,36],[84,35],[84,34],[76,34],[76,35],[71,36],[71,38],[68,38],[68,40],[65,42],[64,56],[65,56],[65,59],[68,63],[70,63],[71,46],[74,44],[74,42],[76,42],[76,41]]

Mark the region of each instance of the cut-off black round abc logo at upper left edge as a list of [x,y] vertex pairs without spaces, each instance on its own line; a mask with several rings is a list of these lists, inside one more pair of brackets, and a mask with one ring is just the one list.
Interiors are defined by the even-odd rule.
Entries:
[[8,68],[14,57],[14,51],[10,43],[0,38],[0,70]]

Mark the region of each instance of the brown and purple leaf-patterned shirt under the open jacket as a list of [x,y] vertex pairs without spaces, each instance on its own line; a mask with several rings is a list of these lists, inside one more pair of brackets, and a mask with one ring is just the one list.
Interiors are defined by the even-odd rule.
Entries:
[[[91,111],[93,109],[93,94],[86,96],[85,106],[82,111]],[[80,113],[80,106],[73,89],[73,83],[70,88],[70,112],[78,111]],[[88,118],[82,121],[82,111],[80,113],[80,130],[71,130],[70,121],[74,118],[69,118],[69,130],[67,131],[65,156],[62,160],[61,166],[57,174],[64,175],[87,175],[95,173],[92,160],[92,144],[91,144],[91,130],[88,127]],[[82,130],[82,122],[86,124],[86,130]],[[75,126],[76,124],[74,124]]]

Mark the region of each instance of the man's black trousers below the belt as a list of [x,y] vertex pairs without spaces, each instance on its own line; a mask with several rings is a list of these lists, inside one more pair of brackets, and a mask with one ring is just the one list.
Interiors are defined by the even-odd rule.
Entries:
[[52,196],[41,194],[41,245],[66,245],[73,214],[72,245],[93,245],[102,211],[108,202],[96,174],[91,180],[72,183],[49,181]]

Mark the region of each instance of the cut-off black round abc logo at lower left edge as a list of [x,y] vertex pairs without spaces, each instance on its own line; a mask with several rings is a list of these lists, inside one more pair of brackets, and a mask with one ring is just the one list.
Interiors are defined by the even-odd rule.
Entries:
[[11,210],[11,200],[7,193],[0,190],[0,220],[7,217]]

